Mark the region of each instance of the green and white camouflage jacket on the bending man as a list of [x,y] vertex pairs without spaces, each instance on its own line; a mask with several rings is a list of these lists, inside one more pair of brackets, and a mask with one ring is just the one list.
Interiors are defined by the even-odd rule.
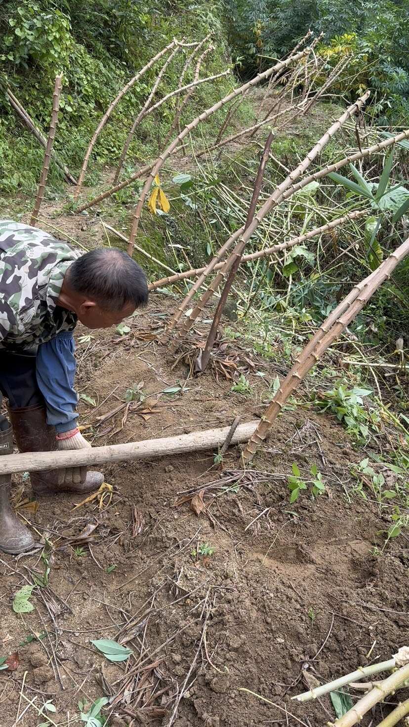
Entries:
[[37,228],[0,220],[0,350],[35,354],[77,318],[57,305],[66,270],[81,252]]

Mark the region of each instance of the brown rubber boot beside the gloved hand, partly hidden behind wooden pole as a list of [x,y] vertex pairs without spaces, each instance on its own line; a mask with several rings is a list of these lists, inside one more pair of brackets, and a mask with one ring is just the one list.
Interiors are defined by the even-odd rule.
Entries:
[[[58,449],[55,429],[47,424],[44,406],[25,406],[10,409],[15,441],[20,452],[44,452]],[[87,467],[70,467],[65,470],[41,470],[31,472],[31,486],[36,494],[59,492],[91,492],[103,483],[103,474],[88,472]]]

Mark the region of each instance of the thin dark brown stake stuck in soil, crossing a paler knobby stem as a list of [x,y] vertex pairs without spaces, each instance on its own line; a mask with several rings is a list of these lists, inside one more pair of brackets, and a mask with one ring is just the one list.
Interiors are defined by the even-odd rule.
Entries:
[[[254,182],[254,189],[253,189],[253,195],[251,197],[250,201],[250,207],[247,212],[247,220],[245,222],[245,230],[250,226],[251,222],[253,222],[253,217],[255,215],[255,206],[258,201],[258,197],[260,196],[261,192],[261,185],[263,183],[263,176],[266,169],[266,164],[269,161],[269,152],[271,147],[271,142],[273,140],[273,133],[270,132],[269,136],[267,137],[266,145],[263,150],[263,154],[261,156],[260,165],[258,166],[258,172],[257,177],[255,177]],[[218,307],[216,308],[215,316],[213,318],[213,323],[210,326],[210,332],[207,337],[207,342],[204,347],[204,350],[199,353],[199,356],[196,359],[196,369],[199,371],[204,371],[206,369],[207,364],[209,363],[210,353],[212,353],[212,348],[215,342],[215,337],[218,332],[218,327],[221,320],[221,314],[223,313],[223,308],[226,305],[227,296],[229,295],[229,292],[231,290],[231,286],[233,285],[234,278],[236,277],[237,270],[239,270],[240,262],[242,262],[244,247],[242,250],[237,252],[235,260],[233,262],[233,265],[231,265],[229,276],[227,277],[226,284],[223,288],[223,291],[221,293],[220,300],[218,302]]]

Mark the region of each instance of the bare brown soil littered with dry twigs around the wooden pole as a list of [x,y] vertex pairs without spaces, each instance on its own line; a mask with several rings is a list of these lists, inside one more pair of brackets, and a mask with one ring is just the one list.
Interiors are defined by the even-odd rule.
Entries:
[[[108,331],[84,340],[88,332],[78,329],[77,385],[96,405],[80,401],[82,425],[123,405],[85,430],[95,446],[261,414],[277,373],[271,364],[264,380],[250,367],[249,396],[232,393],[221,369],[216,380],[215,369],[194,379],[183,361],[172,368],[151,332],[173,305],[152,296],[124,337]],[[233,343],[225,354],[237,366],[226,371],[248,371]],[[140,382],[147,398],[125,406],[126,390]],[[163,393],[178,382],[183,393]],[[351,463],[365,453],[352,449],[334,418],[285,411],[241,479],[231,475],[237,451],[218,465],[215,454],[109,465],[114,494],[102,507],[93,500],[74,509],[81,497],[60,496],[41,498],[36,513],[18,508],[51,551],[51,570],[48,586],[33,590],[35,610],[20,615],[12,601],[44,574],[41,550],[0,560],[0,656],[20,656],[17,670],[0,673],[1,727],[15,726],[26,707],[21,727],[47,723],[47,715],[52,724],[84,724],[79,699],[89,706],[103,695],[110,727],[325,725],[335,719],[328,696],[303,705],[291,696],[388,659],[407,642],[406,539],[372,554],[390,521],[370,493],[366,502],[349,494]],[[290,505],[292,462],[306,476],[316,463],[327,493],[316,500],[302,493]],[[17,503],[31,497],[28,479],[16,477]],[[33,636],[41,638],[20,646]],[[119,641],[132,656],[108,662],[91,643],[98,638]],[[57,712],[39,716],[47,699]],[[378,708],[362,725],[380,719]]]

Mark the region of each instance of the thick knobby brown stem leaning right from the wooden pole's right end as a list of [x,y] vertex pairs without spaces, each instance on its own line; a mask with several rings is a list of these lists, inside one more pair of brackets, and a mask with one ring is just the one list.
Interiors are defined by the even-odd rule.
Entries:
[[392,270],[396,268],[397,264],[408,253],[409,238],[392,252],[384,262],[381,262],[381,265],[373,273],[370,273],[367,278],[354,286],[346,298],[341,301],[337,308],[330,313],[330,316],[326,318],[324,323],[319,326],[317,332],[295,359],[295,364],[288,372],[284,381],[282,381],[274,399],[263,414],[260,425],[248,441],[242,454],[245,465],[250,459],[253,459],[255,451],[257,451],[258,446],[266,438],[266,435],[269,433],[271,426],[274,424],[275,419],[277,419],[279,412],[282,410],[289,396],[298,387],[303,378],[306,377],[306,374],[308,374],[314,364],[317,364],[317,361],[325,353],[328,346],[341,335],[346,326],[349,326],[373,293],[384,283],[386,278],[389,278]]

